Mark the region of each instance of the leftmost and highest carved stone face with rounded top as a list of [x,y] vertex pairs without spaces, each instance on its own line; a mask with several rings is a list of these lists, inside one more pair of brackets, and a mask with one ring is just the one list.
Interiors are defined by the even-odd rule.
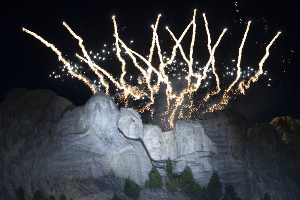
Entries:
[[120,111],[113,100],[105,94],[94,94],[86,107],[86,120],[94,130],[112,131],[116,128]]

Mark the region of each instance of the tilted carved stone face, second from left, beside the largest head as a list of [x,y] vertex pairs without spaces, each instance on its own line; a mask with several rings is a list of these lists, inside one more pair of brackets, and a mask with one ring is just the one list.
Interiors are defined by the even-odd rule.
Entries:
[[120,131],[128,138],[143,137],[143,123],[141,116],[132,108],[120,108],[121,115],[118,122]]

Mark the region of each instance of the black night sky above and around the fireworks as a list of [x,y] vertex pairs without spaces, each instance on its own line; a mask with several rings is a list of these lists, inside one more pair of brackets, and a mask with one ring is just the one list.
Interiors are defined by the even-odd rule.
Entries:
[[[297,6],[291,1],[257,0],[235,3],[230,0],[212,0],[181,1],[178,4],[173,4],[173,1],[158,1],[157,4],[150,3],[154,1],[82,2],[41,1],[35,4],[32,1],[24,1],[1,5],[0,102],[4,100],[7,92],[15,87],[25,87],[29,90],[50,89],[78,106],[84,104],[92,94],[80,81],[64,78],[62,82],[49,77],[53,71],[59,71],[61,62],[51,49],[22,31],[22,27],[53,43],[67,58],[72,59],[74,54],[79,52],[78,42],[73,41],[70,33],[62,25],[63,21],[82,37],[87,51],[100,52],[103,44],[114,43],[112,16],[115,15],[118,25],[126,27],[119,36],[125,43],[134,40],[132,48],[139,52],[144,49],[149,51],[152,40],[151,24],[155,24],[158,14],[162,15],[159,33],[165,34],[161,38],[169,37],[164,28],[166,25],[179,37],[191,21],[193,10],[197,9],[196,40],[202,46],[199,45],[199,50],[195,50],[194,55],[200,56],[194,56],[194,60],[202,59],[204,62],[208,59],[207,50],[205,53],[201,50],[206,48],[204,42],[207,40],[202,13],[205,13],[208,20],[213,44],[224,28],[231,28],[220,43],[223,47],[215,54],[216,67],[224,59],[237,60],[237,49],[246,28],[245,24],[238,23],[240,19],[241,22],[251,21],[241,67],[251,65],[257,68],[264,51],[253,44],[269,43],[277,32],[281,31],[270,48],[270,56],[263,67],[264,71],[268,71],[268,75],[262,75],[259,81],[252,83],[246,95],[229,100],[226,108],[244,113],[250,126],[264,121],[270,122],[277,116],[300,119],[299,17],[296,14]],[[233,23],[234,20],[236,23]],[[171,41],[168,42],[171,46],[174,45]],[[233,47],[230,46],[231,43]],[[226,49],[227,47],[229,49]],[[295,54],[291,54],[290,50],[295,51]],[[271,81],[268,81],[269,78]]]

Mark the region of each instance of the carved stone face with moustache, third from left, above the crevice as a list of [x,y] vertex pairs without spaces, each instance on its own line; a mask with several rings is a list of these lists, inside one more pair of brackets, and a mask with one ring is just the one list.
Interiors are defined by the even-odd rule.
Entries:
[[162,150],[162,132],[158,126],[144,125],[143,142],[149,151],[150,157],[153,160],[161,160]]

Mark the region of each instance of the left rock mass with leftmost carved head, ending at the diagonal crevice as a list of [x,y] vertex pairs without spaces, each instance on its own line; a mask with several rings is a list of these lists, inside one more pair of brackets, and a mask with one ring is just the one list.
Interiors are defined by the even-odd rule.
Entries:
[[[8,141],[1,147],[8,157],[0,152],[0,199],[15,197],[14,185],[22,185],[26,199],[32,199],[36,190],[74,199],[91,194],[111,199],[118,189],[122,192],[126,178],[145,183],[151,161],[141,142],[119,132],[120,111],[110,97],[96,94],[84,106],[67,107],[73,104],[51,91],[22,92],[13,101],[19,103],[16,112],[6,113],[16,107],[10,99],[0,108],[1,121],[7,121],[0,126],[1,140]],[[60,102],[65,106],[56,106]],[[30,107],[22,109],[24,104]],[[7,117],[12,115],[14,121]]]

